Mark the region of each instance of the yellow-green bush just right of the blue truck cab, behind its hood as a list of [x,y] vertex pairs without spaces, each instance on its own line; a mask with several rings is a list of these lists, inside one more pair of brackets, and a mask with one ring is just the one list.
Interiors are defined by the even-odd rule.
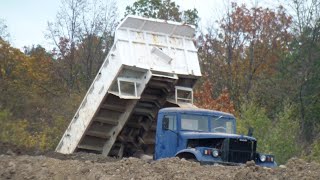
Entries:
[[284,164],[293,156],[298,156],[301,149],[297,144],[299,123],[296,108],[286,105],[275,121],[270,120],[266,111],[253,103],[242,107],[238,130],[245,134],[248,127],[254,128],[253,136],[258,141],[258,152],[275,155],[279,164]]

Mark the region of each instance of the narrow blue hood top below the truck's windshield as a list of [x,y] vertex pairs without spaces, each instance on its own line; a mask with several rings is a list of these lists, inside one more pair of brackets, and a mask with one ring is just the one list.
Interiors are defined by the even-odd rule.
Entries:
[[248,139],[254,140],[254,137],[244,136],[239,134],[228,134],[228,133],[213,133],[213,132],[179,132],[179,135],[183,139],[208,139],[208,138],[233,138],[233,139]]

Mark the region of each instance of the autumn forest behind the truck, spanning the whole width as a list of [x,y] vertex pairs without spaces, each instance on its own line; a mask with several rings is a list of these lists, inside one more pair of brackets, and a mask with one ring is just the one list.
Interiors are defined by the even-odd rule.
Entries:
[[[137,0],[127,14],[196,26],[203,77],[198,107],[230,112],[238,133],[255,129],[258,150],[320,162],[320,1],[275,8],[230,2],[201,29],[197,9]],[[0,20],[0,141],[51,151],[108,54],[119,23],[115,1],[62,0],[41,45],[14,48]]]

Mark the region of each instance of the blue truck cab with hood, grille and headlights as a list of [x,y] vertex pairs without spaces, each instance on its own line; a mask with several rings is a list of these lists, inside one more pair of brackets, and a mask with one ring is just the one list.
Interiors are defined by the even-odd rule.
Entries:
[[202,164],[277,166],[274,156],[256,152],[257,140],[236,134],[232,114],[198,108],[164,108],[158,113],[154,159],[179,157]]

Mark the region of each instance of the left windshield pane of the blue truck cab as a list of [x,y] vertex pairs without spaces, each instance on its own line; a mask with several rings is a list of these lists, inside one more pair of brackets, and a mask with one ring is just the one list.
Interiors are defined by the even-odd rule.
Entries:
[[183,114],[181,115],[181,129],[208,132],[208,116]]

